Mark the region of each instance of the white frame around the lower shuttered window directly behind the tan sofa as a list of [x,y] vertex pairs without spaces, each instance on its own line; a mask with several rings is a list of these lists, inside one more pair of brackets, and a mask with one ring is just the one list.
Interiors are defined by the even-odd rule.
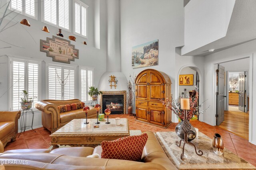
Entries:
[[[77,89],[76,89],[76,86],[77,86],[77,66],[76,65],[72,65],[72,64],[69,64],[69,65],[66,65],[66,64],[55,64],[55,63],[52,63],[52,62],[46,62],[46,65],[45,65],[45,96],[46,98],[48,99],[49,98],[49,66],[55,66],[55,67],[61,67],[62,69],[62,75],[64,74],[64,69],[65,68],[72,68],[74,69],[74,99],[77,98]],[[64,100],[63,96],[61,97],[62,100]]]

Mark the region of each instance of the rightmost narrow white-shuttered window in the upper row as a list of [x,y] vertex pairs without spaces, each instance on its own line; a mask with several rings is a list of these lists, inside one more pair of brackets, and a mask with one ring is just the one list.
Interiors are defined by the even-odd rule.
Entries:
[[87,8],[79,0],[74,0],[74,34],[87,38]]

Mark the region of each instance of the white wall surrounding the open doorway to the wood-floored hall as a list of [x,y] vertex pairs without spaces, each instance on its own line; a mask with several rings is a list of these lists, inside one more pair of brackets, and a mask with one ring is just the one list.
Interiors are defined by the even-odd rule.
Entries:
[[[204,121],[210,125],[216,125],[216,107],[215,105],[215,68],[214,64],[224,63],[229,60],[240,59],[240,57],[250,57],[250,114],[249,114],[249,142],[256,144],[256,124],[252,122],[256,121],[256,110],[253,107],[253,101],[256,100],[256,84],[253,84],[253,80],[256,79],[256,40],[232,47],[218,53],[207,55],[204,59],[204,99],[206,105],[210,105],[210,108],[204,113]],[[238,67],[241,63],[234,65],[234,69]],[[205,105],[205,106],[206,106]]]

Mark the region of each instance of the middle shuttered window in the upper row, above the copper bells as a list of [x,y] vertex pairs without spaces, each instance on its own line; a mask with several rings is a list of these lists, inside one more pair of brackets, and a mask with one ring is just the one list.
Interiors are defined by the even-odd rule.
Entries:
[[42,9],[42,21],[67,31],[70,30],[69,0],[44,0]]

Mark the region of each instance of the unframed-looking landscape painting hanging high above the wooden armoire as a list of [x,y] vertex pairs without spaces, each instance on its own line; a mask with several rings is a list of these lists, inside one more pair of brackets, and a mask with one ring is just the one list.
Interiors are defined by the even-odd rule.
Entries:
[[132,67],[158,65],[158,39],[132,47]]

